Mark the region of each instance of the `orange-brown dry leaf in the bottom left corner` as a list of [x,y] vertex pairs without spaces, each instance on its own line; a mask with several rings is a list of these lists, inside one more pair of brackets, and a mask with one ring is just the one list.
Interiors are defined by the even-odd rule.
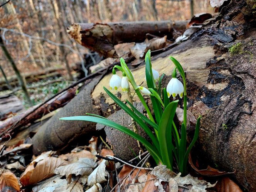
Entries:
[[13,173],[0,173],[0,191],[20,191],[18,179]]

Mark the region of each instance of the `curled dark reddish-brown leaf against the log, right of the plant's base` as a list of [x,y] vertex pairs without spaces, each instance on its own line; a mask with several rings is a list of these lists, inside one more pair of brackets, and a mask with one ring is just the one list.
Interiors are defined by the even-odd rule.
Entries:
[[208,166],[206,169],[197,169],[197,167],[195,167],[192,158],[191,158],[191,153],[189,153],[189,164],[191,165],[191,167],[200,175],[203,176],[208,176],[208,177],[213,177],[213,176],[221,176],[221,175],[228,175],[228,174],[232,174],[235,172],[224,172],[224,171],[219,171],[216,168],[212,168],[210,166]]

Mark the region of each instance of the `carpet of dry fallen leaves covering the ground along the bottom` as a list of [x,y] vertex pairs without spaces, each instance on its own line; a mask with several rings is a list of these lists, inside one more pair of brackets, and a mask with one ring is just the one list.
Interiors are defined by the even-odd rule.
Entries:
[[[27,166],[27,157],[23,153],[31,145],[23,144],[8,148],[7,151],[12,151],[10,153],[3,151],[7,160],[2,161],[0,170],[1,192],[20,192],[21,189],[32,189],[32,192],[206,192],[209,188],[217,192],[242,191],[228,177],[211,184],[191,175],[181,177],[180,173],[170,171],[165,165],[151,171],[143,167],[120,166],[120,162],[108,158],[114,156],[112,150],[97,148],[96,137],[91,138],[88,146],[74,148],[70,153],[58,156],[56,152],[48,151],[37,157],[30,156],[32,159]],[[227,174],[214,168],[193,168],[200,175]]]

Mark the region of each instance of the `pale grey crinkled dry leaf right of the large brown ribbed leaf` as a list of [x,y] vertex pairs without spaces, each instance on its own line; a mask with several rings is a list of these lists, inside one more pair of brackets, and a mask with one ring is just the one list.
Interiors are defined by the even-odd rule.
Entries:
[[97,166],[97,163],[90,158],[80,158],[77,162],[60,166],[56,168],[54,173],[60,175],[66,175],[68,177],[71,174],[74,175],[90,175],[93,172],[93,168]]

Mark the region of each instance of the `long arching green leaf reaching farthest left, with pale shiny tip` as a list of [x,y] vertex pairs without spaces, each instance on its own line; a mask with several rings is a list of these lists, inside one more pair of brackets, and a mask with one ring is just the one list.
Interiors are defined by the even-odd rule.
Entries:
[[93,116],[72,116],[72,117],[62,117],[60,120],[81,120],[81,121],[90,121],[94,123],[100,123],[106,126],[110,126],[112,128],[115,128],[119,131],[122,131],[123,133],[126,133],[127,135],[130,135],[131,137],[135,138],[136,140],[140,141],[147,149],[150,154],[153,154],[155,157],[157,157],[159,160],[162,160],[160,157],[160,153],[158,152],[157,148],[155,148],[150,142],[148,142],[145,138],[142,136],[134,133],[130,129],[115,123],[110,120],[106,120],[103,118],[93,117]]

